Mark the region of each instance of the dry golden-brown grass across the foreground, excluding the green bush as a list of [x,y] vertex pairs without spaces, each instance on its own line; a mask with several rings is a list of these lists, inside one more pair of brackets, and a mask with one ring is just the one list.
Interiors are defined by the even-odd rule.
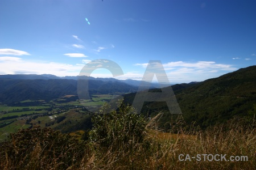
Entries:
[[[66,152],[59,152],[59,155],[53,153],[54,148],[47,147],[54,146],[54,140],[48,141],[48,145],[42,145],[44,140],[31,143],[31,150],[26,151],[26,143],[20,145],[13,139],[8,147],[1,146],[0,169],[256,169],[256,130],[253,128],[231,124],[229,130],[216,126],[201,132],[170,134],[148,129],[146,133],[144,141],[134,142],[129,151],[113,150],[113,146],[99,147],[97,143],[81,145],[73,141],[73,145],[61,146],[60,150],[64,147],[68,150],[66,148]],[[73,149],[80,154],[70,152]],[[226,159],[242,155],[248,156],[248,161],[179,161],[180,154],[226,154]]]

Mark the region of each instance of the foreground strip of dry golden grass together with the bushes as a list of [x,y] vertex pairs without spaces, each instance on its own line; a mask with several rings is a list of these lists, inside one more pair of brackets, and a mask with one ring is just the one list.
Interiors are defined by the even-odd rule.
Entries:
[[[32,128],[11,134],[0,146],[1,169],[255,169],[255,121],[230,120],[205,131],[177,134],[154,130],[159,116],[147,123],[130,107],[111,113],[102,108],[93,118],[87,141],[48,128]],[[121,116],[122,115],[122,116]],[[177,122],[176,125],[179,125]],[[225,155],[226,161],[179,160],[179,155]],[[228,161],[247,156],[246,161]],[[184,159],[184,157],[183,157]]]

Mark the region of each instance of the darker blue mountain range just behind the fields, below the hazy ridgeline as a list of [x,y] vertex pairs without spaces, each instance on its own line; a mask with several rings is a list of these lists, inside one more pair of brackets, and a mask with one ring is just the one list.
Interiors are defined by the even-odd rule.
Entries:
[[[138,87],[122,82],[89,80],[90,94],[128,93]],[[77,95],[77,80],[72,79],[0,79],[0,102],[52,100],[64,95]]]

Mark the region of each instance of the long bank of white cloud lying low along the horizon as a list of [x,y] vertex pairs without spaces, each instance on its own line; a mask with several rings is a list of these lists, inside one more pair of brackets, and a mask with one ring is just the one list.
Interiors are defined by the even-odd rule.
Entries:
[[[79,75],[85,63],[91,62],[89,59],[81,59],[81,61],[82,63],[69,65],[65,63],[46,61],[26,61],[18,57],[0,57],[0,74],[54,74],[57,76]],[[103,62],[107,62],[107,60],[104,60]],[[94,68],[98,71],[93,72],[91,76],[113,77],[108,70],[100,69],[102,62],[94,61],[92,64],[95,65]],[[152,64],[156,69],[160,68],[156,63]],[[135,66],[140,66],[142,68],[146,68],[147,65],[148,63],[135,64]],[[171,84],[202,81],[237,70],[232,65],[220,64],[213,61],[198,61],[193,63],[177,61],[163,63],[163,66]],[[144,71],[142,69],[142,71],[139,72],[128,72],[114,78],[141,80],[143,78],[143,74]]]

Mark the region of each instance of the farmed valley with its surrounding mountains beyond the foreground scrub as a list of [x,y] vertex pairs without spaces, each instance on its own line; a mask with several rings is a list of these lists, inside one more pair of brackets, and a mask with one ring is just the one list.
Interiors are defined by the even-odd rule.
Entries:
[[[38,79],[38,76],[5,75],[2,79],[0,76],[2,140],[20,128],[38,125],[58,129],[64,133],[86,131],[92,127],[90,118],[97,108],[112,99],[115,103],[118,96],[123,96],[124,104],[131,105],[138,89],[138,86],[113,78],[90,78],[90,99],[79,99],[76,91],[77,80],[47,77]],[[197,130],[204,130],[234,117],[249,122],[253,120],[256,112],[255,77],[256,66],[250,66],[204,82],[175,84],[164,88],[174,91],[182,112],[182,128],[189,129],[193,124]],[[126,82],[139,84],[135,80]],[[151,88],[149,92],[160,92],[160,89]],[[172,127],[180,121],[179,115],[168,111],[164,102],[167,100],[168,96],[163,102],[144,101],[140,112],[144,117],[150,118],[162,112],[158,128],[166,132],[174,130]]]

